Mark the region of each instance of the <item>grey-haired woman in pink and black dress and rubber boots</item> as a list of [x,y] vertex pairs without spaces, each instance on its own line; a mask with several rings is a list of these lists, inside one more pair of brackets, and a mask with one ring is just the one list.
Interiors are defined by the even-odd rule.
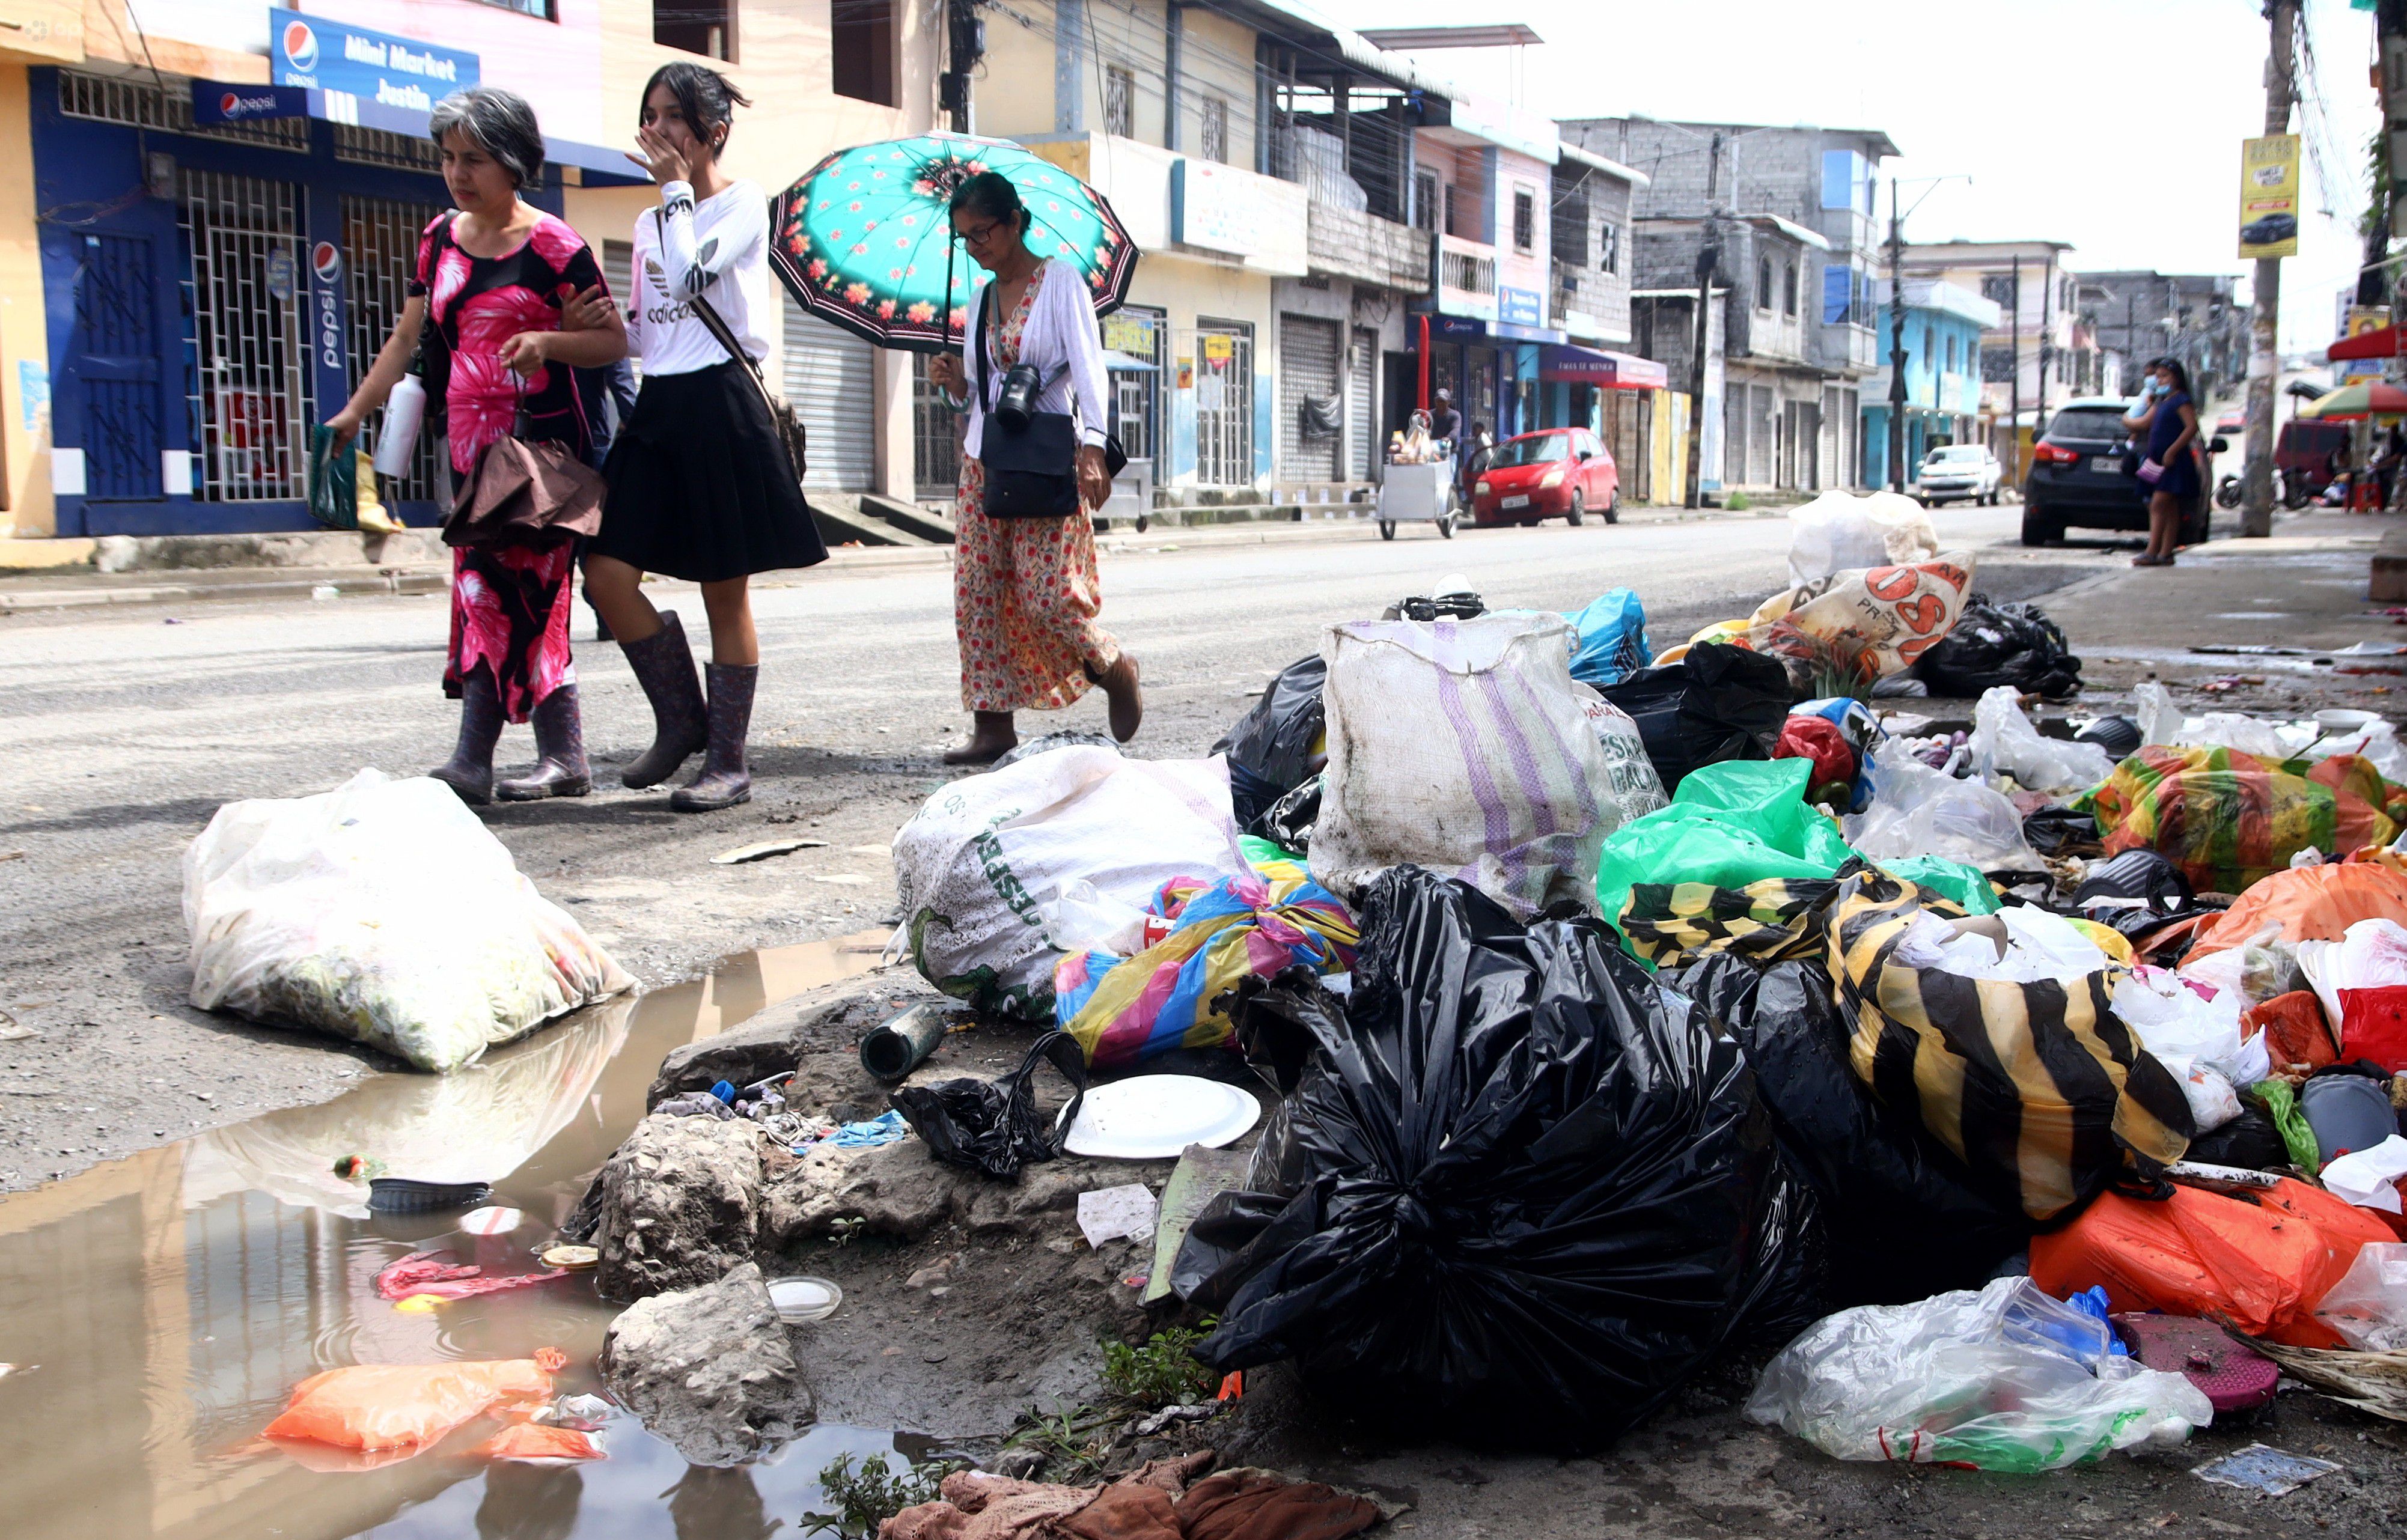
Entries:
[[[349,404],[330,419],[337,443],[359,433],[409,368],[424,334],[426,356],[448,361],[443,407],[450,469],[465,479],[477,452],[513,431],[563,443],[578,460],[592,452],[595,402],[578,368],[626,356],[616,306],[592,330],[561,330],[561,308],[580,296],[607,298],[602,267],[561,219],[518,190],[542,176],[544,137],[534,111],[510,91],[469,87],[436,103],[431,130],[443,149],[443,183],[460,205],[419,238],[409,298],[392,337]],[[460,744],[431,770],[469,804],[582,796],[592,789],[578,719],[578,674],[568,657],[575,551],[558,546],[453,549],[450,657],[443,693],[460,700]],[[534,775],[493,784],[493,744],[503,722],[534,722],[542,756]]]

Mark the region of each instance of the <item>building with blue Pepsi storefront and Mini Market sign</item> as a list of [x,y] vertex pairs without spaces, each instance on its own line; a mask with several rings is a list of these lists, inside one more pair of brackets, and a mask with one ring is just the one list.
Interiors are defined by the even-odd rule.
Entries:
[[[22,173],[0,176],[0,448],[19,534],[313,527],[311,426],[383,346],[419,231],[450,202],[426,140],[448,91],[484,82],[534,106],[546,168],[525,195],[626,296],[633,224],[657,195],[623,147],[657,65],[729,72],[756,106],[727,168],[775,192],[828,149],[932,128],[941,43],[893,0],[75,10],[46,63],[0,58],[0,154]],[[814,484],[907,493],[907,363],[787,310],[770,378],[804,409]],[[421,443],[400,513],[431,525],[438,496]]]

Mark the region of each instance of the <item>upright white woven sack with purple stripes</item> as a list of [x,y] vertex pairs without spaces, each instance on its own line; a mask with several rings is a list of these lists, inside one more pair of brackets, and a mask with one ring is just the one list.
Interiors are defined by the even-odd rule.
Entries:
[[1613,763],[1572,681],[1555,614],[1331,626],[1329,772],[1312,876],[1355,890],[1406,861],[1528,919],[1596,907],[1596,861],[1620,828]]

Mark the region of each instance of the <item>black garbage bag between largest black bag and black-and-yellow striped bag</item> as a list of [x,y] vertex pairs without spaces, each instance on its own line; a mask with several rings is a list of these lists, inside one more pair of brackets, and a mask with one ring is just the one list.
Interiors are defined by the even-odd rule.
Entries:
[[1745,1049],[1781,1148],[1817,1198],[1832,1309],[1976,1290],[2029,1242],[2019,1208],[1986,1198],[1962,1160],[1856,1078],[1825,962],[1757,967],[1716,953],[1658,977]]

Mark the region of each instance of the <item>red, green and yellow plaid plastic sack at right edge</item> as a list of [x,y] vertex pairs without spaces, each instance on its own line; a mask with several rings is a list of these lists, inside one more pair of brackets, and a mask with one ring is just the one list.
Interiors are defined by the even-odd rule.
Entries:
[[2284,871],[2301,849],[2388,845],[2407,823],[2407,789],[2361,756],[2308,765],[2169,744],[2125,758],[2072,806],[2099,821],[2106,854],[2154,849],[2212,893]]

